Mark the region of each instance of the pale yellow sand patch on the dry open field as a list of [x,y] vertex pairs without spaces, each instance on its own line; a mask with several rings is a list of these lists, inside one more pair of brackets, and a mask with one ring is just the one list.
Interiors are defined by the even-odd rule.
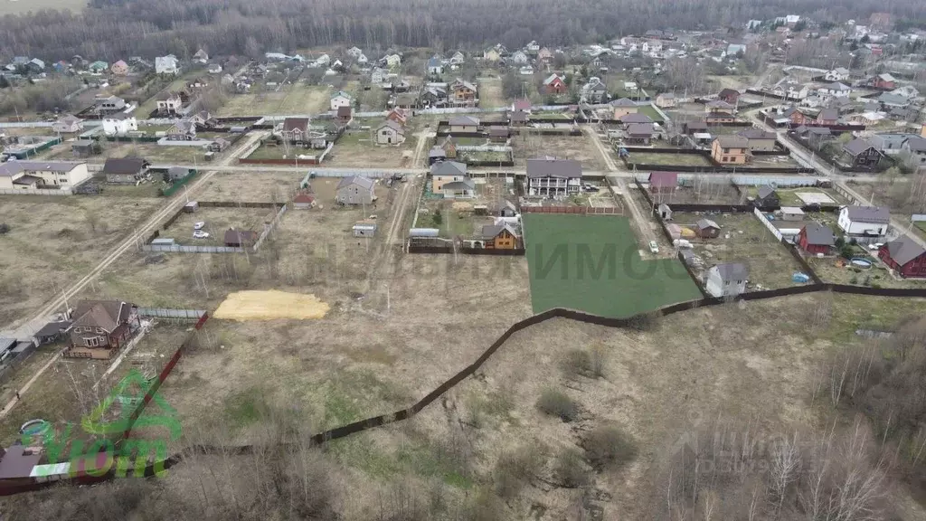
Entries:
[[315,295],[269,291],[238,291],[219,304],[215,318],[228,320],[275,320],[322,318],[331,307]]

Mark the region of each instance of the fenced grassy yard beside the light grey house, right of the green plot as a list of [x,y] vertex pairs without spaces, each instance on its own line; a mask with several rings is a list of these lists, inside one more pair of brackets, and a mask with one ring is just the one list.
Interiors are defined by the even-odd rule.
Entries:
[[693,239],[694,253],[705,269],[724,262],[743,262],[749,267],[748,289],[796,286],[791,280],[801,267],[782,243],[751,213],[694,214],[674,212],[672,222],[694,230],[694,223],[709,219],[720,226],[714,239]]

